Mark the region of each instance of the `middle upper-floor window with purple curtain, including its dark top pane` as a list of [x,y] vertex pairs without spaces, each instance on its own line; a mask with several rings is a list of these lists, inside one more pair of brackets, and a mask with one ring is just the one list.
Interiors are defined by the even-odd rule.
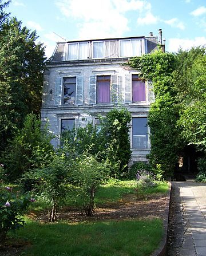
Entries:
[[97,103],[110,103],[110,76],[97,76]]

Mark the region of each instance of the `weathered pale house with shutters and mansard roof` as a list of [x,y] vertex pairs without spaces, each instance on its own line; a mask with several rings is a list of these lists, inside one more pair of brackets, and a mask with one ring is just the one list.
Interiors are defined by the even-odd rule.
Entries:
[[[152,52],[158,44],[162,45],[161,29],[159,37],[150,33],[148,37],[58,42],[44,73],[42,123],[48,120],[51,132],[60,135],[73,125],[95,123],[92,116],[106,115],[121,105],[132,114],[132,161],[146,161],[152,83],[142,81],[139,70],[122,64]],[[56,137],[51,143],[57,147],[60,141]]]

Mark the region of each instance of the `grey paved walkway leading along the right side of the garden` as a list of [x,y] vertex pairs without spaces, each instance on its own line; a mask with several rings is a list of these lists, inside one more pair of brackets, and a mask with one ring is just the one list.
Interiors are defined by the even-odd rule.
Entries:
[[173,186],[179,190],[186,222],[179,255],[206,256],[206,184],[187,180]]

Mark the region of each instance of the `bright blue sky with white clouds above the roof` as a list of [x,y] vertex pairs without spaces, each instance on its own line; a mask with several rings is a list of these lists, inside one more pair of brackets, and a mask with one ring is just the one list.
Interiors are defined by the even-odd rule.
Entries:
[[12,0],[6,9],[46,46],[56,42],[158,36],[165,50],[206,46],[206,0]]

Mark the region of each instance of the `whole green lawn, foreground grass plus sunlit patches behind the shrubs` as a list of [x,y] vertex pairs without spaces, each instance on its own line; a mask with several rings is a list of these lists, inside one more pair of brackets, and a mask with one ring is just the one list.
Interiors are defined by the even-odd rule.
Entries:
[[[126,195],[137,196],[134,181],[114,181],[101,186],[97,192],[96,205],[118,204],[121,215],[122,200]],[[148,195],[163,196],[168,185],[161,183],[146,191]],[[141,202],[138,202],[141,203]],[[72,204],[72,199],[68,206]],[[144,205],[144,204],[142,204]],[[41,203],[36,207],[41,208]],[[43,204],[42,204],[43,207]],[[142,206],[141,206],[142,207]],[[144,206],[143,206],[144,207]],[[113,209],[112,209],[113,210]],[[161,218],[84,218],[84,220],[61,220],[57,223],[39,222],[26,218],[26,226],[9,237],[30,244],[21,255],[28,256],[146,256],[156,249],[163,235]]]

